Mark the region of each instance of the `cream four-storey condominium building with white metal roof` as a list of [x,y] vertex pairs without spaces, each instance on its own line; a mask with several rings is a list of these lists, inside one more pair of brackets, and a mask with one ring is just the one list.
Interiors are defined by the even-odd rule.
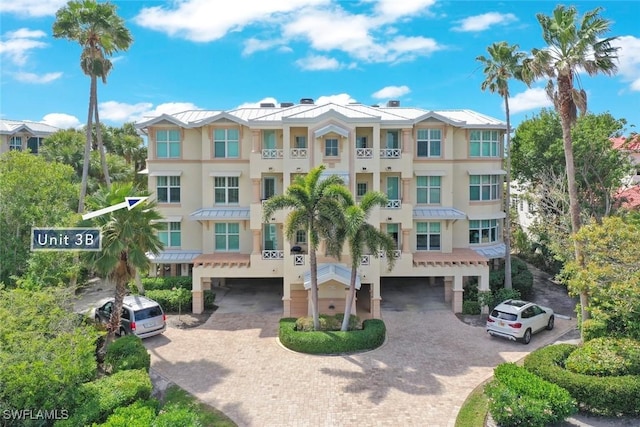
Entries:
[[[463,282],[489,289],[489,263],[502,258],[505,123],[470,110],[262,104],[231,111],[162,115],[137,127],[148,135],[149,189],[164,215],[160,271],[192,275],[193,311],[203,290],[230,278],[282,281],[283,314],[309,312],[306,235],[283,237],[287,212],[262,222],[262,201],[294,177],[324,164],[356,197],[381,191],[386,208],[370,222],[393,236],[396,263],[365,255],[358,270],[358,312],[380,316],[389,278],[444,283],[462,310]],[[321,313],[344,309],[348,250],[338,262],[318,251]]]

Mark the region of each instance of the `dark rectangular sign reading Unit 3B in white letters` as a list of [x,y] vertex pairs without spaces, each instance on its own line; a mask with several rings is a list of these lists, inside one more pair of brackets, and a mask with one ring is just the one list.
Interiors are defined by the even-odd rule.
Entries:
[[32,251],[102,250],[99,228],[32,228]]

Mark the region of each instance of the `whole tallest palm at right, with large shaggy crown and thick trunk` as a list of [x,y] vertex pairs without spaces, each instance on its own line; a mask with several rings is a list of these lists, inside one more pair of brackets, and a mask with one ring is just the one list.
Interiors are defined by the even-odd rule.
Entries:
[[[611,46],[616,37],[602,38],[609,32],[611,22],[600,17],[601,7],[586,12],[578,22],[575,7],[556,6],[552,16],[536,15],[542,27],[542,38],[547,46],[532,49],[531,58],[523,61],[523,80],[531,83],[537,78],[548,78],[547,95],[560,115],[562,140],[569,189],[569,209],[571,212],[571,232],[580,229],[580,205],[576,172],[573,160],[571,127],[577,119],[577,112],[587,110],[587,95],[584,89],[576,89],[574,78],[579,70],[590,76],[597,74],[613,75],[617,71],[618,48]],[[582,248],[576,239],[574,253],[578,265],[584,266]],[[580,291],[582,320],[589,318],[587,307],[589,295],[585,289]]]

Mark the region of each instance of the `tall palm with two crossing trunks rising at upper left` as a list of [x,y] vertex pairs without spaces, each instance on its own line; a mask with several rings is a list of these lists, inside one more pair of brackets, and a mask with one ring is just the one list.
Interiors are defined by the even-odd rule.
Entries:
[[95,117],[98,149],[102,160],[102,169],[107,187],[111,185],[109,168],[102,147],[100,117],[98,116],[98,77],[103,83],[113,64],[107,58],[118,51],[127,50],[133,39],[126,28],[124,20],[116,14],[116,7],[111,3],[98,3],[95,0],[70,1],[56,12],[53,24],[53,36],[76,41],[82,47],[80,67],[91,79],[89,89],[89,111],[87,117],[87,141],[84,150],[82,169],[82,186],[78,212],[84,211],[84,199],[87,193],[89,173],[89,154],[92,145],[92,122]]

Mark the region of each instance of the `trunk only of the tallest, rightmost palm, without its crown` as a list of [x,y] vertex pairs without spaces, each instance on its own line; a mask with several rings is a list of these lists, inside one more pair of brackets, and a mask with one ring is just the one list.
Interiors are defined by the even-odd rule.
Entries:
[[[575,234],[580,230],[580,205],[578,201],[578,186],[576,183],[576,170],[573,160],[573,143],[571,140],[571,124],[574,121],[573,99],[571,95],[572,83],[571,76],[558,76],[558,98],[560,121],[562,124],[562,142],[564,145],[564,157],[567,168],[567,186],[569,187],[569,211],[571,216],[571,234]],[[573,248],[578,265],[584,267],[584,257],[582,255],[582,247],[576,239],[573,239]],[[582,321],[587,320],[590,316],[587,307],[589,306],[589,294],[586,289],[580,291],[580,310]]]

